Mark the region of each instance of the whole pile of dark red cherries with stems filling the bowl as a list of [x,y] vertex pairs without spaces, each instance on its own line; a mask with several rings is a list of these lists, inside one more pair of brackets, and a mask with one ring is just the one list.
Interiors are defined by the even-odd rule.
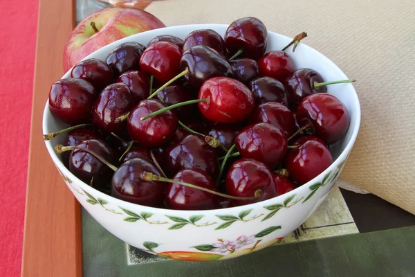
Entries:
[[55,150],[73,175],[127,202],[203,210],[287,193],[333,163],[329,145],[350,116],[326,85],[352,81],[324,82],[266,42],[246,17],[224,39],[161,35],[84,60],[49,93],[50,111],[73,126],[45,139],[68,132]]

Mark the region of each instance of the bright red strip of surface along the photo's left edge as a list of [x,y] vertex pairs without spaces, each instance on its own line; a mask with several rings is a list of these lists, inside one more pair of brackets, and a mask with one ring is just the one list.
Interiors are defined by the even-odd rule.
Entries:
[[37,9],[0,1],[0,276],[20,275]]

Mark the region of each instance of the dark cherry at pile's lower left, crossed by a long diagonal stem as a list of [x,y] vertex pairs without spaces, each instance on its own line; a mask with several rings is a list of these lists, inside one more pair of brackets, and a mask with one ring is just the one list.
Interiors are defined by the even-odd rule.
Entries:
[[[86,148],[99,154],[114,166],[118,165],[116,152],[114,152],[107,143],[98,139],[86,139],[77,144],[77,146]],[[94,188],[106,188],[109,186],[109,180],[113,171],[107,165],[102,163],[92,154],[82,150],[72,150],[69,156],[69,170],[86,184],[90,184],[93,178]]]

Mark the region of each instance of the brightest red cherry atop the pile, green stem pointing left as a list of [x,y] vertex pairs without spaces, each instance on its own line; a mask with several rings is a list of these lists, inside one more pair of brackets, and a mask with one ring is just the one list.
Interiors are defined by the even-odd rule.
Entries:
[[207,80],[199,90],[201,114],[217,123],[237,123],[249,118],[254,109],[254,96],[241,82],[215,77]]

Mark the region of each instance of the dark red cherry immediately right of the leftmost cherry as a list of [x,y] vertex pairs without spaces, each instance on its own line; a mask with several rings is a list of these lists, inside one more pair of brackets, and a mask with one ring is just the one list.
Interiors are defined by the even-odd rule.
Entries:
[[134,107],[134,96],[127,84],[118,82],[106,87],[92,107],[92,122],[102,131],[118,133],[125,128],[125,121],[116,122]]

